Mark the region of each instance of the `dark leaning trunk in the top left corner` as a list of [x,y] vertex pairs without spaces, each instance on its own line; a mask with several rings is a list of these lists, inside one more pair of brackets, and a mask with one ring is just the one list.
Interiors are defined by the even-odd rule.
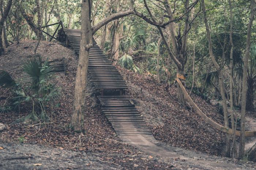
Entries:
[[[0,1],[0,7],[3,5],[3,0]],[[0,19],[0,55],[3,54],[3,51],[4,51],[4,48],[3,48],[3,40],[2,40],[2,33],[3,33],[3,27],[4,27],[4,22],[7,18],[7,15],[11,9],[11,6],[12,6],[12,0],[8,0],[8,3],[6,5],[6,8],[4,10],[4,13]]]

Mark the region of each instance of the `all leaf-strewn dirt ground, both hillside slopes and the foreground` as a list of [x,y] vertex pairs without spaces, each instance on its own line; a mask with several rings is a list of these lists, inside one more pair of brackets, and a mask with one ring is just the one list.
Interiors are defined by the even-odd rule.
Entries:
[[[8,70],[15,80],[26,81],[22,64],[33,54],[34,45],[35,41],[23,41],[9,47],[8,53],[0,58],[1,69]],[[192,108],[181,108],[175,86],[166,90],[165,84],[156,86],[151,75],[122,68],[119,69],[129,86],[126,94],[134,98],[136,108],[159,140],[159,151],[123,143],[101,113],[90,82],[84,113],[86,134],[73,133],[68,125],[74,98],[76,55],[54,42],[41,42],[38,54],[43,59],[64,57],[67,61],[67,75],[56,73],[53,80],[61,88],[56,103],[59,107],[54,110],[51,124],[13,124],[29,113],[31,108],[27,105],[21,107],[20,113],[1,113],[0,123],[7,129],[0,132],[0,169],[255,169],[252,162],[214,156],[222,153],[223,134],[200,119]],[[8,96],[8,91],[0,89],[0,96]],[[207,116],[223,123],[214,106],[198,96],[192,97]],[[20,137],[24,143],[18,142]],[[166,154],[162,155],[161,151]],[[33,166],[36,163],[42,165]]]

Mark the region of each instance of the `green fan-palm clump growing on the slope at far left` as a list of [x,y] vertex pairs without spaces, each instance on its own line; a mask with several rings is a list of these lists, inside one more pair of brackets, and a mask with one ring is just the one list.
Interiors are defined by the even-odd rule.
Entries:
[[59,96],[59,89],[49,82],[52,69],[47,61],[42,62],[42,58],[37,55],[23,65],[23,70],[27,73],[27,80],[31,83],[31,87],[19,85],[10,74],[4,71],[0,72],[1,86],[14,91],[12,96],[0,107],[0,112],[15,111],[20,109],[21,104],[26,104],[31,106],[31,112],[17,122],[27,119],[48,121],[50,116],[47,112],[53,113],[53,103]]

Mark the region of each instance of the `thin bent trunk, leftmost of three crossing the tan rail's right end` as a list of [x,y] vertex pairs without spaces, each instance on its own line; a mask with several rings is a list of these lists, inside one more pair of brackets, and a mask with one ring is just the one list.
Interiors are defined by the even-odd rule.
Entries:
[[[207,32],[207,39],[208,39],[208,46],[209,46],[209,53],[210,53],[210,58],[217,69],[218,76],[219,76],[219,86],[221,88],[221,97],[222,97],[222,106],[223,106],[223,111],[224,111],[224,122],[225,122],[225,127],[229,128],[229,119],[228,119],[228,112],[227,112],[227,104],[226,104],[226,96],[225,96],[225,87],[224,87],[224,82],[223,82],[223,74],[221,67],[218,65],[218,63],[215,60],[215,57],[213,55],[212,51],[212,43],[211,43],[211,35],[210,35],[210,29],[207,21],[207,16],[206,16],[206,10],[205,10],[205,4],[204,0],[202,0],[202,8],[203,8],[203,15],[204,15],[204,23],[206,26],[206,32]],[[226,133],[226,157],[230,157],[230,136],[229,134]]]

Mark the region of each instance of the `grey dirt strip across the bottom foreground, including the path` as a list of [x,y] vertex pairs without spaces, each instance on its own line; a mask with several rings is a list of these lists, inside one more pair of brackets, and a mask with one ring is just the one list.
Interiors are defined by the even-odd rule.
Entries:
[[[187,151],[162,143],[136,145],[149,155],[120,153],[108,155],[100,152],[76,152],[33,144],[0,142],[0,169],[256,169],[252,162],[234,161],[200,152]],[[151,156],[152,155],[152,156]],[[123,161],[117,164],[105,161],[115,157]],[[39,166],[35,166],[39,165]]]

